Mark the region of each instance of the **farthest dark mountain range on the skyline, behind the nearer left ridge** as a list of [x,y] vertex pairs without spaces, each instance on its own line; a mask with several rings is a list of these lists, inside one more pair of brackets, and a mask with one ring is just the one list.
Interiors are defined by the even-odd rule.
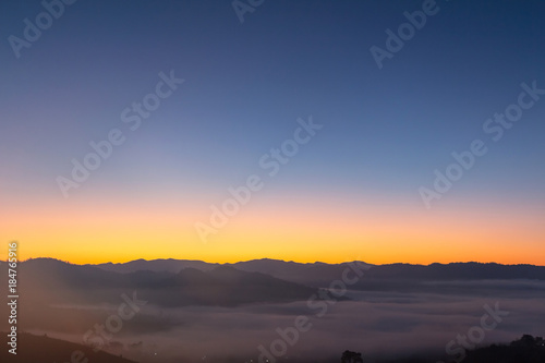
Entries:
[[184,268],[196,268],[209,271],[218,266],[230,266],[246,273],[259,273],[272,277],[303,283],[306,286],[325,287],[331,281],[339,279],[342,271],[356,264],[367,267],[365,278],[362,280],[432,280],[432,281],[475,281],[475,280],[512,280],[534,279],[545,280],[545,266],[534,265],[500,265],[495,263],[451,263],[451,264],[387,264],[372,265],[364,262],[352,262],[341,264],[295,263],[279,259],[253,259],[235,264],[214,264],[202,261],[189,259],[137,259],[123,264],[99,264],[94,265],[100,269],[121,274],[137,270],[150,270],[156,273],[178,273]]

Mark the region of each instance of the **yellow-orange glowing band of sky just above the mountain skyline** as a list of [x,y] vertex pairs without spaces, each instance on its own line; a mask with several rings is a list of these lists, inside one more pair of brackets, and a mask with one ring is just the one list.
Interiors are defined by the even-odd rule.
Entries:
[[[545,265],[544,210],[523,210],[447,203],[426,210],[409,202],[348,205],[332,198],[268,201],[244,206],[203,243],[194,222],[207,221],[209,213],[194,201],[120,204],[83,199],[4,209],[0,213],[0,237],[5,243],[20,242],[22,261],[52,257],[75,264],[275,258],[300,263],[358,259],[371,264]],[[523,241],[520,249],[513,247],[518,241]],[[1,259],[5,259],[7,250],[0,250]]]

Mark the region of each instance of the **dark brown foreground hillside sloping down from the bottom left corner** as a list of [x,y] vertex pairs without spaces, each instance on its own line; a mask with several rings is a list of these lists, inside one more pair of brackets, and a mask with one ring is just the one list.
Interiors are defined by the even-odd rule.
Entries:
[[[134,363],[128,359],[109,354],[104,351],[94,352],[92,348],[52,339],[46,336],[32,334],[17,335],[16,355],[8,352],[7,332],[0,332],[3,337],[0,350],[0,362],[5,363],[65,363],[65,362],[100,362],[100,363]],[[88,361],[86,361],[88,360]]]

